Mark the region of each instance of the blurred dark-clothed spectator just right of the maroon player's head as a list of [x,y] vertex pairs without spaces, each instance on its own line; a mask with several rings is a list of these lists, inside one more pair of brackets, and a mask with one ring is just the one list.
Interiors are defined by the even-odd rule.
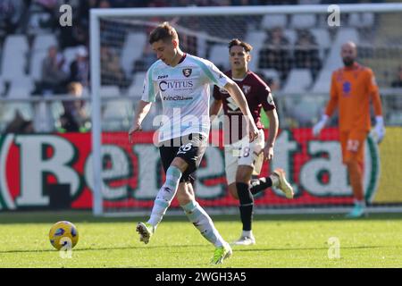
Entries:
[[259,68],[277,70],[281,82],[284,82],[291,66],[289,39],[283,35],[283,30],[279,27],[268,33],[264,48],[260,51]]

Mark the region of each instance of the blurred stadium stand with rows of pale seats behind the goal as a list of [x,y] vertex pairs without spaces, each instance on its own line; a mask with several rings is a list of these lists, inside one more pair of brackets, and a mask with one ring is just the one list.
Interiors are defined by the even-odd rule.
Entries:
[[[42,80],[41,67],[50,46],[59,46],[63,56],[63,71],[71,72],[71,63],[76,61],[77,54],[82,51],[82,46],[88,48],[88,9],[91,7],[161,7],[161,6],[182,6],[182,5],[216,5],[212,0],[194,1],[95,1],[80,2],[70,1],[74,6],[74,27],[61,28],[58,25],[56,5],[63,1],[50,1],[46,6],[46,1],[4,1],[0,4],[0,97],[3,98],[28,98],[31,94],[40,95],[40,81]],[[357,1],[358,2],[358,1]],[[239,4],[327,4],[328,1],[320,0],[300,0],[300,1],[227,1],[231,5]],[[8,6],[6,6],[8,5]],[[14,13],[8,15],[10,7]],[[13,21],[6,21],[6,17],[11,17]],[[239,34],[228,35],[236,38],[244,38],[254,46],[252,52],[253,61],[250,69],[262,74],[267,80],[274,80],[279,83],[280,89],[277,91],[279,96],[312,92],[327,94],[331,82],[331,71],[341,65],[339,57],[339,47],[347,40],[354,40],[361,49],[361,62],[369,66],[376,67],[378,83],[381,87],[390,88],[391,82],[395,80],[393,72],[398,69],[400,62],[395,61],[395,57],[384,59],[379,55],[381,52],[376,46],[386,46],[387,53],[394,53],[398,57],[400,54],[400,38],[398,29],[390,29],[400,20],[398,15],[381,15],[374,13],[350,13],[341,15],[341,20],[345,23],[342,29],[329,29],[323,15],[314,14],[275,14],[255,17],[253,21],[249,19],[239,19],[236,25],[243,27],[239,29]],[[241,17],[239,17],[241,18]],[[222,29],[230,30],[229,24],[225,19],[211,18],[209,22],[200,22],[203,29],[191,34],[185,30],[186,36],[182,38],[188,52],[194,52],[202,57],[209,58],[218,67],[226,70],[229,68],[228,51],[226,39],[221,42],[216,38],[219,32],[212,25],[213,21],[222,25]],[[155,19],[158,21],[158,19]],[[180,21],[179,21],[180,23]],[[243,25],[244,23],[247,23]],[[180,23],[184,28],[186,25]],[[124,23],[118,23],[119,27]],[[122,25],[122,26],[121,26]],[[226,27],[226,26],[228,27]],[[281,32],[279,32],[281,30]],[[300,64],[297,59],[297,51],[300,50],[299,37],[301,31],[309,31],[314,49],[318,55],[312,63]],[[131,30],[121,35],[116,35],[114,29],[105,30],[104,40],[110,45],[113,54],[113,62],[117,59],[117,66],[111,71],[105,71],[102,82],[102,96],[119,97],[129,96],[138,98],[142,90],[144,71],[150,63],[155,61],[155,55],[147,48],[147,31]],[[281,34],[280,36],[276,34]],[[117,37],[118,38],[116,40]],[[283,38],[275,43],[275,38]],[[211,41],[214,38],[214,42]],[[229,38],[228,38],[229,39]],[[390,41],[390,39],[394,39]],[[277,46],[275,46],[277,45]],[[272,47],[273,46],[273,47]],[[278,46],[283,49],[281,55],[275,55],[273,63],[270,63],[270,56],[267,49],[278,52]],[[360,53],[360,51],[359,51]],[[400,57],[399,57],[400,58]],[[276,61],[276,62],[275,62]],[[114,70],[113,70],[114,69]],[[121,80],[112,77],[112,73],[118,74],[122,71]],[[77,74],[76,74],[77,76]],[[82,76],[82,75],[81,75]],[[87,75],[88,77],[88,75]],[[73,77],[71,77],[73,80]],[[75,78],[74,80],[77,80]],[[88,92],[88,80],[83,80],[84,92]],[[67,83],[67,82],[66,82]],[[57,106],[50,105],[55,109],[53,114],[57,114]],[[54,107],[52,107],[54,106]],[[117,105],[116,105],[117,106]],[[107,108],[111,108],[110,106]],[[32,107],[31,107],[32,109]],[[106,109],[108,110],[108,109]],[[25,114],[29,114],[25,112]],[[109,111],[106,113],[109,114]],[[113,113],[112,113],[113,114]],[[31,114],[29,114],[31,116]],[[124,115],[124,116],[127,116]],[[398,112],[389,114],[391,122],[400,122]],[[109,116],[112,118],[113,116]],[[2,121],[10,120],[10,115],[4,117],[0,113]],[[300,118],[303,121],[303,118]],[[4,123],[1,128],[4,127]],[[1,129],[1,130],[4,130]],[[0,131],[1,131],[0,130]]]

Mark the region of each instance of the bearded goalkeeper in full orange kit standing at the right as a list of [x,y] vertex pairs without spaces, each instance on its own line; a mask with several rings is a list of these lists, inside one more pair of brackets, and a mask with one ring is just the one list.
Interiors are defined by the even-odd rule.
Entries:
[[332,73],[331,98],[320,122],[313,128],[317,136],[335,109],[339,109],[339,140],[343,164],[348,167],[349,181],[355,197],[355,206],[347,215],[364,215],[364,141],[371,129],[370,101],[375,113],[374,133],[379,141],[385,135],[381,98],[373,71],[356,63],[357,49],[353,42],[345,43],[340,53],[344,67]]

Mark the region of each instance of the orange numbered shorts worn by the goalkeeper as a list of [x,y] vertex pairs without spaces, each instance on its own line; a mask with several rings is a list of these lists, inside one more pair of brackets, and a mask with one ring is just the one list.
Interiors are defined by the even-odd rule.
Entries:
[[364,142],[367,136],[368,131],[366,130],[340,131],[343,164],[349,161],[364,163]]

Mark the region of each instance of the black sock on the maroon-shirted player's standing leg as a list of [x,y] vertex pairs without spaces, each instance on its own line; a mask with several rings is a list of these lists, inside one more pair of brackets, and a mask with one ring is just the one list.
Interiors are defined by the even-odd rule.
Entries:
[[243,223],[243,231],[251,231],[251,222],[253,221],[253,207],[254,199],[248,184],[244,182],[237,182],[236,188],[238,189],[238,196],[240,201],[240,217]]

